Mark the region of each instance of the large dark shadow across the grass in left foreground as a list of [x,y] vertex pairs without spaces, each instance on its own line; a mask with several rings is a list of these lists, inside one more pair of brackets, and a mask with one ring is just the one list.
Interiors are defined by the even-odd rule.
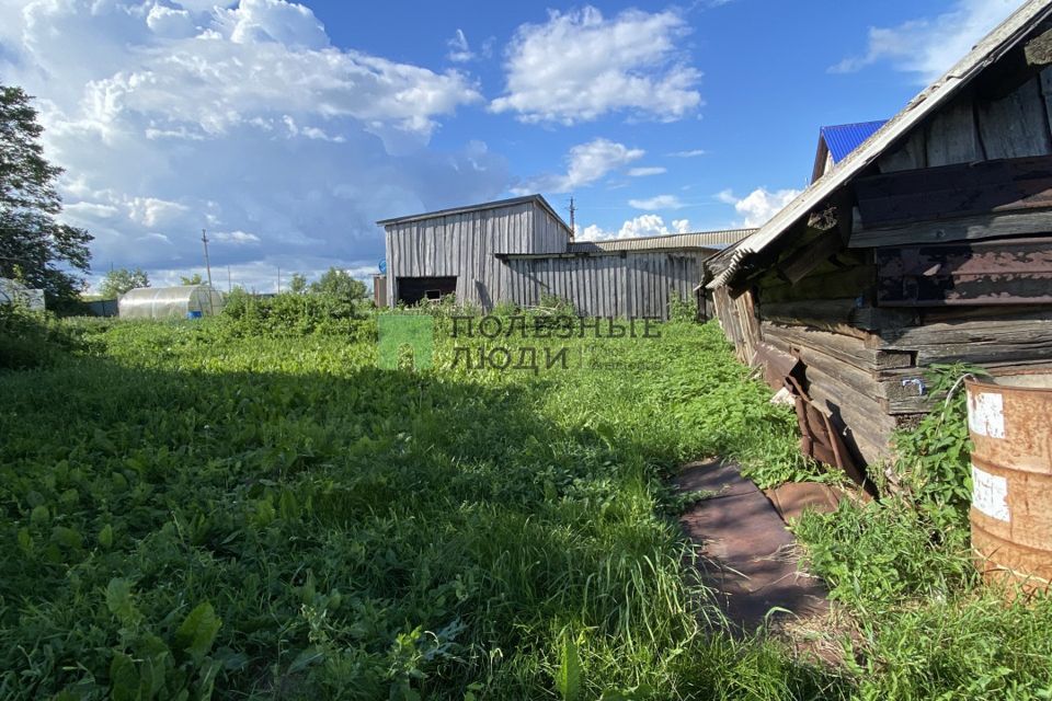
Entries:
[[595,692],[844,696],[700,632],[654,475],[624,467],[654,456],[539,415],[542,384],[79,358],[0,389],[4,698],[103,694],[201,601],[221,697],[537,697],[567,630]]

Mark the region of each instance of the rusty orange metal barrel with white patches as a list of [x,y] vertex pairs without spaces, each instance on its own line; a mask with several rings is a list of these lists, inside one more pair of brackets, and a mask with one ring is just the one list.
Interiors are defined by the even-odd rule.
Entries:
[[972,548],[987,581],[1052,583],[1052,372],[965,380]]

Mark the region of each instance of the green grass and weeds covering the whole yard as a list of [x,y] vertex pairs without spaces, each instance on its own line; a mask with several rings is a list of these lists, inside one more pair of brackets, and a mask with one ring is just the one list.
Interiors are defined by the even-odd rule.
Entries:
[[1050,698],[1052,607],[984,591],[905,502],[798,527],[843,663],[720,632],[670,474],[815,470],[714,325],[496,342],[568,348],[536,374],[454,368],[443,336],[381,370],[374,320],[283,304],[12,346],[0,698]]

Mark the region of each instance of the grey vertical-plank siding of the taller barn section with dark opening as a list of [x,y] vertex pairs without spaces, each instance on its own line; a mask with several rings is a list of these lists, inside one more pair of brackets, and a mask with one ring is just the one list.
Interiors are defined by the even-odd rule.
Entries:
[[534,203],[387,226],[388,301],[399,277],[456,276],[457,299],[485,310],[510,294],[511,271],[496,254],[561,252],[569,237]]

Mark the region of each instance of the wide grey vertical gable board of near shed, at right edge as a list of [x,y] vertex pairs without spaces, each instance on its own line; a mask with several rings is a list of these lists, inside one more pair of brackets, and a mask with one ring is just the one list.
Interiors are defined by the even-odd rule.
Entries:
[[979,133],[987,159],[1052,152],[1044,96],[1032,78],[1000,100],[980,102]]

